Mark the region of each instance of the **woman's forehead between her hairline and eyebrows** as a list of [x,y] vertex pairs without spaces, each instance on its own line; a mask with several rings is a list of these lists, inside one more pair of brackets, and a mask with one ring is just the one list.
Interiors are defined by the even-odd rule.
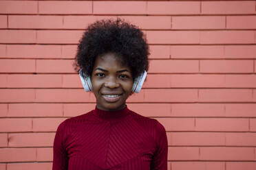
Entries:
[[94,69],[97,67],[103,67],[103,69],[128,69],[129,66],[122,60],[122,57],[117,56],[114,53],[105,53],[102,56],[98,56],[94,63]]

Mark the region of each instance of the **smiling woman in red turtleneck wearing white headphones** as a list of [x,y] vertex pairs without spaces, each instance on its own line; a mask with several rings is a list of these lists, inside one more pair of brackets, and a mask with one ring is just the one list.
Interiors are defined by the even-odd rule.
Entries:
[[53,170],[167,169],[164,127],[126,106],[145,80],[148,55],[136,26],[120,19],[89,25],[78,45],[76,71],[94,93],[96,108],[58,126]]

